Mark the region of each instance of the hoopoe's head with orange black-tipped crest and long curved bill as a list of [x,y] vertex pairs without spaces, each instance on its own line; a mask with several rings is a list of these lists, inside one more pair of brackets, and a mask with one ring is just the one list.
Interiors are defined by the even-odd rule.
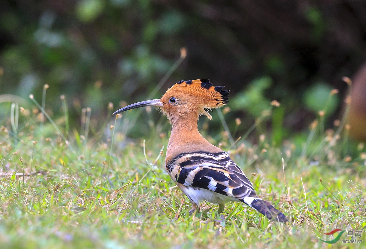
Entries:
[[198,119],[201,114],[211,119],[207,109],[223,106],[229,100],[229,90],[223,88],[224,86],[214,87],[209,79],[182,80],[169,88],[161,99],[134,103],[113,114],[142,106],[157,106],[172,124],[179,119]]

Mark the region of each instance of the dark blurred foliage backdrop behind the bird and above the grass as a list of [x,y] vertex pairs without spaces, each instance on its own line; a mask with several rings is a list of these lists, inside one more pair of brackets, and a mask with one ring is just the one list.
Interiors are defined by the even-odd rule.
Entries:
[[231,127],[242,118],[243,132],[277,99],[283,139],[308,129],[332,88],[340,93],[327,125],[340,117],[342,77],[365,61],[365,30],[363,0],[3,0],[0,94],[41,102],[48,84],[51,112],[61,113],[64,94],[76,124],[82,107],[107,117],[108,102],[116,110],[146,99],[185,47],[153,98],[179,80],[209,78],[231,90],[226,118]]

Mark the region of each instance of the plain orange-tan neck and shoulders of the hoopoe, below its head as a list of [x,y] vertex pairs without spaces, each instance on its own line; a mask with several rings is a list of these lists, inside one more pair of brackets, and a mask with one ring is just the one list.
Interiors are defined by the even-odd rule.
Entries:
[[165,162],[170,162],[177,155],[184,152],[222,152],[220,148],[210,144],[202,137],[197,128],[197,121],[198,117],[182,118],[173,122]]

